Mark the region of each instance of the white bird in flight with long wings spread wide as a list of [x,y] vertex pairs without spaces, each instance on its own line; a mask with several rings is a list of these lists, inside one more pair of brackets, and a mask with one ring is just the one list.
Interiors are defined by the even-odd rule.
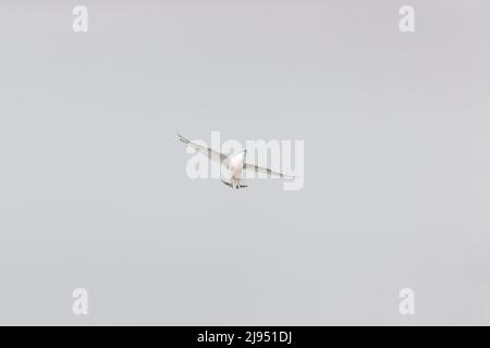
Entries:
[[238,153],[235,153],[233,156],[228,156],[221,152],[218,152],[216,150],[212,150],[211,148],[204,147],[201,145],[198,145],[194,141],[187,140],[182,135],[177,134],[179,140],[184,142],[187,147],[191,147],[193,149],[196,149],[200,153],[207,156],[210,160],[218,162],[222,166],[224,166],[230,172],[230,181],[225,182],[221,179],[221,182],[229,186],[230,188],[244,188],[248,187],[247,185],[242,184],[242,172],[243,170],[247,171],[255,171],[256,173],[265,173],[270,175],[277,175],[281,178],[289,178],[293,179],[294,176],[284,175],[279,172],[274,172],[268,167],[258,166],[256,164],[246,163],[245,159],[247,156],[247,150],[243,150]]

